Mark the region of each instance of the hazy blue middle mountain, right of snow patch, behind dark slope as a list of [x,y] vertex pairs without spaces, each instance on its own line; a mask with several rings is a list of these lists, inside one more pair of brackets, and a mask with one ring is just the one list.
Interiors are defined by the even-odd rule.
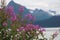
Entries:
[[36,21],[45,20],[52,17],[52,15],[49,14],[49,12],[46,12],[42,9],[35,9],[32,15],[36,18]]

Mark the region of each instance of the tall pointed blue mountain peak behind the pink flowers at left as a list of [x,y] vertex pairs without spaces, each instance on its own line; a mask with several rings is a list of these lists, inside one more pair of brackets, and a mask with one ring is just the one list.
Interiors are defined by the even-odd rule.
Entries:
[[[9,7],[9,6],[14,6],[14,12],[15,12],[16,14],[18,14],[18,13],[19,13],[18,9],[19,9],[19,7],[21,7],[22,5],[17,4],[17,3],[15,3],[14,1],[10,1],[10,2],[8,3],[7,7]],[[30,13],[30,12],[28,11],[28,9],[27,9],[26,7],[24,7],[23,15],[26,15],[26,14],[28,14],[28,13]]]

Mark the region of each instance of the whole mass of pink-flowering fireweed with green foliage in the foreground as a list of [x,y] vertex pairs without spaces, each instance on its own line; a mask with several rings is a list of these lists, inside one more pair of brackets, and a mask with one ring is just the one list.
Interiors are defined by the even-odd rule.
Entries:
[[[0,8],[0,40],[47,40],[43,35],[45,29],[32,24],[35,17],[29,13],[23,17],[24,6],[20,6],[18,11],[16,14],[13,6]],[[39,34],[43,39],[39,39]],[[55,36],[56,33],[52,39]]]

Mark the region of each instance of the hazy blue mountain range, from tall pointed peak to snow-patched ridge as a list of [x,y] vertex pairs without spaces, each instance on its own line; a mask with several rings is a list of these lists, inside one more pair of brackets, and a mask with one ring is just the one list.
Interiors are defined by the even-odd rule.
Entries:
[[[19,13],[18,9],[20,6],[20,4],[17,4],[15,3],[14,1],[10,1],[7,5],[7,7],[9,6],[14,6],[14,12],[16,14]],[[31,13],[35,18],[36,20],[35,21],[39,21],[39,20],[45,20],[45,19],[48,19],[48,18],[51,18],[52,15],[50,15],[48,12],[42,10],[42,9],[35,9],[35,10],[31,10],[31,9],[27,9],[26,7],[24,7],[24,12],[23,12],[23,17],[28,14],[28,13]]]

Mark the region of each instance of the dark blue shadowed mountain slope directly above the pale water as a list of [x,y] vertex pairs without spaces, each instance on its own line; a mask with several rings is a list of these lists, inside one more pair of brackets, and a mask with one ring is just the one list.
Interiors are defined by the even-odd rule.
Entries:
[[47,20],[36,21],[34,24],[39,24],[43,27],[60,27],[60,16],[53,16]]

